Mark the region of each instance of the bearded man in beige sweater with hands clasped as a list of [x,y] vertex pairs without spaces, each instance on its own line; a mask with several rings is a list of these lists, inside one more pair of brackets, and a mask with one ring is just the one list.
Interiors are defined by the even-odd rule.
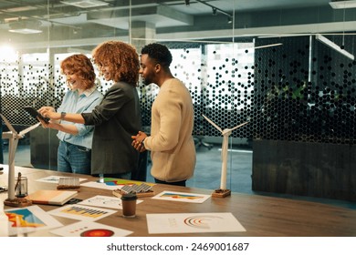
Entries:
[[166,46],[154,43],[141,50],[143,82],[156,84],[160,91],[152,104],[151,136],[140,131],[132,137],[132,146],[151,151],[151,174],[156,183],[185,186],[193,177],[196,161],[194,107],[187,87],[172,75],[171,63]]

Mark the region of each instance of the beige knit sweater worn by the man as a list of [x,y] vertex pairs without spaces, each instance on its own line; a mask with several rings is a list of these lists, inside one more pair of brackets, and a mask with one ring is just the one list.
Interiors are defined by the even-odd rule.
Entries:
[[193,176],[193,128],[189,90],[176,78],[165,81],[152,105],[151,136],[144,140],[145,148],[151,150],[151,174],[155,179],[173,182]]

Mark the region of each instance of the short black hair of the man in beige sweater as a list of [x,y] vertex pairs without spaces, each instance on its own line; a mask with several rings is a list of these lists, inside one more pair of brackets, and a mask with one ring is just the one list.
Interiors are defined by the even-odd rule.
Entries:
[[166,68],[172,63],[172,54],[170,50],[161,44],[153,43],[143,46],[141,54],[147,54],[150,58],[156,60],[158,64]]

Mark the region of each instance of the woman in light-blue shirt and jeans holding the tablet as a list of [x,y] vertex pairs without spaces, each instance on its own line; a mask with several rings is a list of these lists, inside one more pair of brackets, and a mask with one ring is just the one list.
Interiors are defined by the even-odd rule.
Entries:
[[[102,95],[95,86],[95,72],[90,59],[82,54],[68,56],[60,63],[69,90],[63,97],[58,112],[88,113],[99,105]],[[56,112],[54,107],[41,110]],[[44,128],[58,130],[58,171],[90,174],[92,126],[70,121],[41,121]]]

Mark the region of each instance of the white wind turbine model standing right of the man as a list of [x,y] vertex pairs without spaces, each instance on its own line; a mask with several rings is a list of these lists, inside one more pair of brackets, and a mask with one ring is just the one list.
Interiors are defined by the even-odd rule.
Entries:
[[213,193],[213,197],[219,197],[219,198],[224,198],[226,196],[229,196],[231,194],[230,189],[226,189],[226,175],[227,175],[227,146],[228,146],[228,138],[231,135],[231,133],[236,129],[240,128],[242,126],[245,126],[248,121],[245,123],[242,123],[235,128],[225,128],[224,130],[219,128],[212,120],[210,120],[208,117],[203,117],[211,124],[213,125],[217,130],[219,130],[223,134],[223,145],[221,147],[221,160],[222,160],[222,166],[221,166],[221,180],[220,180],[220,189],[215,189],[215,192]]

